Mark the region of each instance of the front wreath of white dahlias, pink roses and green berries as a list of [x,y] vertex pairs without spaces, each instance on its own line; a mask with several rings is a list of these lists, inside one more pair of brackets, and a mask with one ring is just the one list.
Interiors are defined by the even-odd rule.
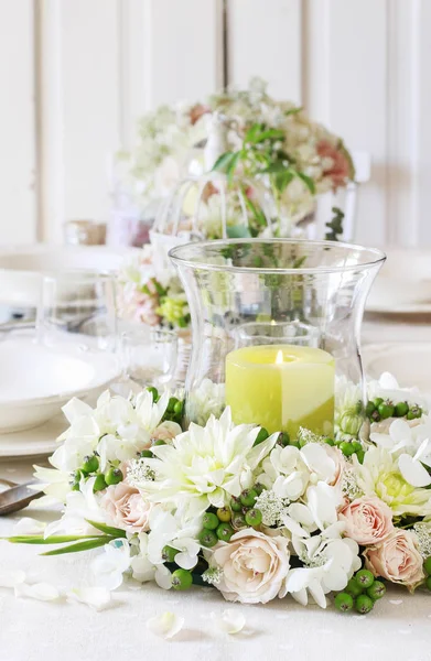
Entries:
[[[337,418],[352,423],[344,391]],[[369,384],[368,422],[335,440],[269,436],[228,408],[183,431],[182,402],[153,388],[106,392],[95,409],[72,400],[53,468],[35,474],[63,516],[10,541],[60,544],[47,555],[103,546],[93,570],[109,589],[126,575],[245,604],[291,595],[324,608],[332,595],[368,613],[384,581],[431,589],[431,421],[418,397],[385,375]]]

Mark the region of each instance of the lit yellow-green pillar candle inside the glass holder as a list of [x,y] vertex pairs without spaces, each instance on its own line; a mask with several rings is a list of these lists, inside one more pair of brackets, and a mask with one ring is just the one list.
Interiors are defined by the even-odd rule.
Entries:
[[331,434],[335,360],[312,347],[263,345],[226,356],[226,404],[236,424],[260,424],[294,437],[303,426]]

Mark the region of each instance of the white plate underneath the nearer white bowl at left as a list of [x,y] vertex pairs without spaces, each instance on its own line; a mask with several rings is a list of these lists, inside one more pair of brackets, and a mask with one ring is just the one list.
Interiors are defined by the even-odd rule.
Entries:
[[67,429],[63,413],[43,425],[9,434],[0,434],[0,459],[13,457],[41,457],[52,454],[58,446],[56,438]]

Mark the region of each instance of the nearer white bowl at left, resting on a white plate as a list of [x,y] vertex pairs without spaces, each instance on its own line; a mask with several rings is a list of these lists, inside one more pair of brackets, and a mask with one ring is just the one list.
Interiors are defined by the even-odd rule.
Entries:
[[40,425],[73,397],[101,392],[120,373],[114,354],[65,343],[55,348],[28,335],[0,342],[0,433]]

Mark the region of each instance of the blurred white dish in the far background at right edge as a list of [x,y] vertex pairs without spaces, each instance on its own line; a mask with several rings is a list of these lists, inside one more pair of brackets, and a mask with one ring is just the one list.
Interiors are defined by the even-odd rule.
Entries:
[[367,311],[385,314],[431,313],[431,250],[389,248],[373,284]]

